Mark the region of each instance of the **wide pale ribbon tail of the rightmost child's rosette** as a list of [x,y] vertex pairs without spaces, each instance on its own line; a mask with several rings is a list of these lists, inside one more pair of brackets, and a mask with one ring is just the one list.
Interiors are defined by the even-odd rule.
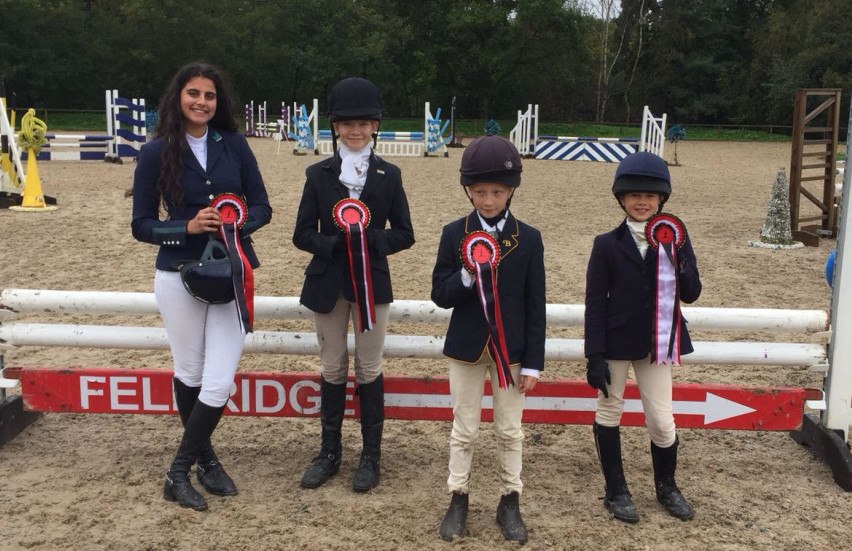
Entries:
[[654,308],[654,359],[657,365],[680,365],[680,289],[677,248],[660,243]]

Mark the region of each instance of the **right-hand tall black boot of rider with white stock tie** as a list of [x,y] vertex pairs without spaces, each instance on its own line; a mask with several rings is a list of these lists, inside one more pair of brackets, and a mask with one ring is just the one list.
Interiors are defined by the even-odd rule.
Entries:
[[358,385],[358,400],[361,403],[361,461],[352,478],[352,489],[366,492],[379,485],[382,459],[382,428],[385,423],[384,375],[372,383]]

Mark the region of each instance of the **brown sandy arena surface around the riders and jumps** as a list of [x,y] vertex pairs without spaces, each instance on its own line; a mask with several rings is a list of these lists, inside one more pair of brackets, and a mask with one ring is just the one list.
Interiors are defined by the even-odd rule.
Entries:
[[[276,154],[272,140],[251,140],[274,208],[255,234],[262,267],[259,295],[296,296],[309,256],[291,244],[304,169],[317,158]],[[825,258],[834,246],[772,251],[748,247],[759,235],[789,144],[682,142],[666,210],[687,225],[708,307],[828,309]],[[670,156],[670,155],[669,155]],[[470,206],[458,184],[461,152],[450,158],[392,159],[403,172],[417,243],[391,257],[395,296],[429,299],[441,227]],[[42,185],[59,199],[52,213],[0,211],[3,288],[153,290],[156,248],[130,235],[131,201],[123,192],[134,163],[45,162]],[[518,218],[545,241],[547,298],[582,303],[594,235],[621,220],[610,195],[616,165],[525,161],[513,201]],[[30,321],[159,325],[157,318],[32,315]],[[305,322],[264,320],[257,329],[310,331]],[[391,327],[441,334],[444,327]],[[580,338],[577,329],[549,336]],[[817,337],[693,331],[693,340],[814,342]],[[24,348],[11,366],[168,368],[166,352]],[[315,357],[246,354],[243,370],[309,371]],[[388,359],[385,371],[445,374],[441,360]],[[545,377],[584,376],[579,363],[551,362]],[[690,365],[678,381],[820,387],[805,368]],[[315,419],[226,418],[214,440],[240,488],[209,496],[210,510],[181,509],[162,498],[163,473],[180,438],[170,416],[48,414],[0,448],[0,549],[508,549],[494,522],[498,501],[494,438],[483,425],[473,471],[470,536],[447,544],[437,535],[446,509],[449,423],[386,422],[382,483],[354,494],[360,449],[355,421],[344,423],[341,473],[321,489],[299,488],[319,444]],[[678,480],[696,518],[677,521],[657,504],[644,429],[623,431],[625,471],[642,521],[611,520],[588,426],[527,425],[522,510],[527,549],[827,549],[848,545],[852,494],[785,433],[681,430]]]

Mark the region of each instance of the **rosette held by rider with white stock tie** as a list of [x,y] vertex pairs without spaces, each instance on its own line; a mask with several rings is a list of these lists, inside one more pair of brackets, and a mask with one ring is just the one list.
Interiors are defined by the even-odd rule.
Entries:
[[367,226],[370,209],[357,199],[343,199],[334,205],[332,218],[346,235],[346,253],[352,274],[352,292],[358,308],[359,333],[376,324],[376,304],[373,297],[373,276],[370,272],[370,252],[367,248]]

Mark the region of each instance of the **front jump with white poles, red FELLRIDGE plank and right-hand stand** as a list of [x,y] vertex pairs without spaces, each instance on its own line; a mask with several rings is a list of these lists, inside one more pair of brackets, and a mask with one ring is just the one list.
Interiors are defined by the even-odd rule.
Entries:
[[[835,292],[843,285],[842,249],[835,279]],[[838,297],[835,296],[835,300]],[[852,298],[848,299],[852,300]],[[694,330],[761,331],[815,334],[825,332],[828,315],[821,310],[739,309],[684,307]],[[158,313],[153,294],[49,291],[7,289],[0,292],[0,352],[21,346],[85,347],[166,350],[168,341],[162,327],[30,323],[14,318],[28,314],[51,315],[145,315]],[[550,304],[548,327],[572,327],[583,323],[584,307]],[[258,319],[311,319],[312,313],[298,304],[296,297],[257,297]],[[395,323],[446,324],[450,312],[435,308],[429,301],[398,300],[391,305],[390,321]],[[839,323],[837,316],[832,320]],[[846,320],[844,319],[844,322]],[[852,322],[849,322],[852,323]],[[844,329],[846,327],[844,326]],[[847,341],[849,339],[846,339]],[[354,336],[349,336],[354,351]],[[695,341],[694,353],[684,363],[712,365],[805,366],[828,373],[823,390],[781,387],[749,387],[718,384],[676,384],[673,387],[674,414],[678,426],[685,428],[795,430],[806,434],[809,416],[805,407],[822,411],[824,418],[834,415],[835,425],[826,438],[841,442],[848,430],[852,392],[850,362],[841,361],[850,354],[845,343],[832,340],[829,350],[822,344]],[[256,331],[246,337],[246,352],[316,355],[314,333]],[[440,358],[443,339],[429,335],[389,334],[384,354],[390,357]],[[848,358],[849,356],[843,356]],[[549,338],[545,359],[582,361],[583,341]],[[2,366],[2,355],[0,355]],[[22,404],[29,411],[79,413],[173,414],[171,371],[102,368],[5,368],[0,371],[0,396],[20,381]],[[448,420],[452,418],[449,383],[445,377],[388,376],[386,415],[410,420]],[[349,415],[357,415],[350,380]],[[316,416],[319,413],[319,377],[316,373],[240,373],[228,402],[230,415]],[[483,419],[493,417],[490,389],[483,398]],[[847,401],[832,402],[831,396],[847,396]],[[622,424],[644,423],[641,400],[635,384],[628,386]],[[2,403],[2,402],[0,402]],[[584,381],[542,381],[526,398],[525,422],[588,424],[594,418],[596,391]],[[829,408],[833,407],[834,411]],[[2,408],[0,408],[2,409]],[[0,411],[2,413],[2,411]],[[846,423],[846,424],[844,424]],[[814,425],[815,426],[815,425]],[[802,440],[816,438],[800,436]],[[808,440],[807,443],[810,443]],[[842,441],[845,446],[845,440]],[[852,490],[848,468],[848,447],[827,459],[835,480]],[[832,459],[834,458],[834,459]],[[837,459],[839,458],[839,459]],[[832,463],[834,461],[834,463]],[[842,463],[846,461],[846,467]],[[835,471],[834,464],[837,463]],[[846,469],[845,471],[843,469]]]

